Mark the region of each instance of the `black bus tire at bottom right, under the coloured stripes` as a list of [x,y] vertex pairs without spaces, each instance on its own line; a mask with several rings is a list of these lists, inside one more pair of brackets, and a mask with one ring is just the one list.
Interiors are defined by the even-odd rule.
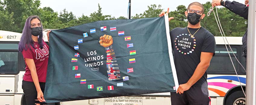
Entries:
[[243,91],[235,91],[227,97],[225,105],[245,105],[245,95]]

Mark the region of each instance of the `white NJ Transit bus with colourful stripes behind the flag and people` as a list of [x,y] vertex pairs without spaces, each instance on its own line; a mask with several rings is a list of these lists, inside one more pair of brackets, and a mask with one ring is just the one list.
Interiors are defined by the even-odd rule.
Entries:
[[[44,30],[44,41],[47,43],[47,30]],[[0,31],[0,105],[26,105],[21,88],[25,73],[25,62],[18,52],[21,33]],[[242,37],[227,37],[237,58],[245,66],[242,57]],[[216,39],[216,55],[208,68],[208,88],[211,105],[233,105],[233,101],[245,102],[241,87],[233,70],[222,37]],[[232,59],[242,79],[245,90],[245,71]],[[3,61],[4,63],[1,63]],[[240,79],[240,80],[241,80]],[[234,95],[235,94],[235,95]],[[231,100],[231,101],[230,101]],[[171,105],[170,93],[156,93],[136,96],[122,96],[115,98],[99,98],[81,101],[55,103],[55,105]],[[238,103],[239,104],[239,103]],[[234,105],[238,105],[234,104]],[[242,104],[241,104],[242,105]]]

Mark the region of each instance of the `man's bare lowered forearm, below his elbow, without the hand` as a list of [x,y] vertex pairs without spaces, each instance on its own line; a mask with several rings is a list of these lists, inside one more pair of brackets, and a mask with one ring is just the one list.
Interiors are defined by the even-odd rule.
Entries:
[[200,62],[197,65],[197,68],[196,68],[194,74],[187,81],[187,84],[189,84],[190,86],[194,85],[203,76],[203,74],[206,72],[206,70],[209,67],[209,65],[210,65],[210,63]]

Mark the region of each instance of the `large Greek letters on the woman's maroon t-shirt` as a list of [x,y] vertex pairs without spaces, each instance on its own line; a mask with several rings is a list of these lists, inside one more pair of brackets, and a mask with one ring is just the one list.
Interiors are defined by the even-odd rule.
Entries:
[[[40,48],[35,49],[35,52],[37,54],[36,59],[43,58],[44,56],[46,56],[45,58],[49,57],[49,56],[47,56],[47,55],[49,55],[49,50],[46,45],[43,46],[43,49],[40,49]],[[43,61],[45,58],[40,59],[40,61]]]

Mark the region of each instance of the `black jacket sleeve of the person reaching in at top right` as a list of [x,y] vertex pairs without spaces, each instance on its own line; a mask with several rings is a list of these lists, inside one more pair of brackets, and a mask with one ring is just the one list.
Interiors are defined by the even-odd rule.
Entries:
[[241,4],[236,1],[225,1],[224,7],[248,20],[249,7],[246,7],[245,4]]

